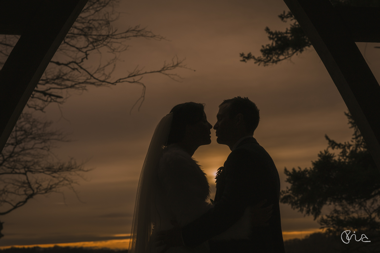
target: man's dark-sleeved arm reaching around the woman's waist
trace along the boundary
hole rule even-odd
[[[249,204],[263,198],[260,193],[263,175],[252,153],[247,149],[238,149],[231,152],[226,163],[226,185],[220,201],[181,230],[183,242],[188,247],[196,247],[223,233],[242,217]]]

